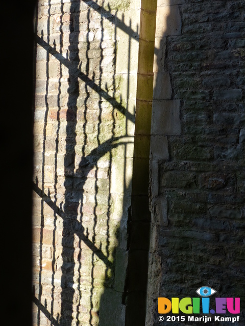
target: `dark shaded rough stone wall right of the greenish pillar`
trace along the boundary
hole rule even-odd
[[[243,1],[158,1],[147,325],[203,285],[244,309],[244,26]]]

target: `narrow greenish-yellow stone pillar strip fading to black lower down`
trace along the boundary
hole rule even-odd
[[[143,325],[145,322],[151,225],[149,155],[156,5],[156,1],[141,2],[132,199],[128,221],[127,326]]]

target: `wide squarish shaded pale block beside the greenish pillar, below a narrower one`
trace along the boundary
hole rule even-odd
[[[179,100],[153,101],[151,133],[181,134]]]

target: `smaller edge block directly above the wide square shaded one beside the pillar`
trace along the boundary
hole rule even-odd
[[[156,72],[153,82],[153,99],[170,99],[172,95],[172,87],[170,76],[166,72]]]

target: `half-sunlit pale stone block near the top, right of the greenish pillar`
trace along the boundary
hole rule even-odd
[[[181,16],[179,7],[163,6],[157,8],[156,37],[181,34]]]

